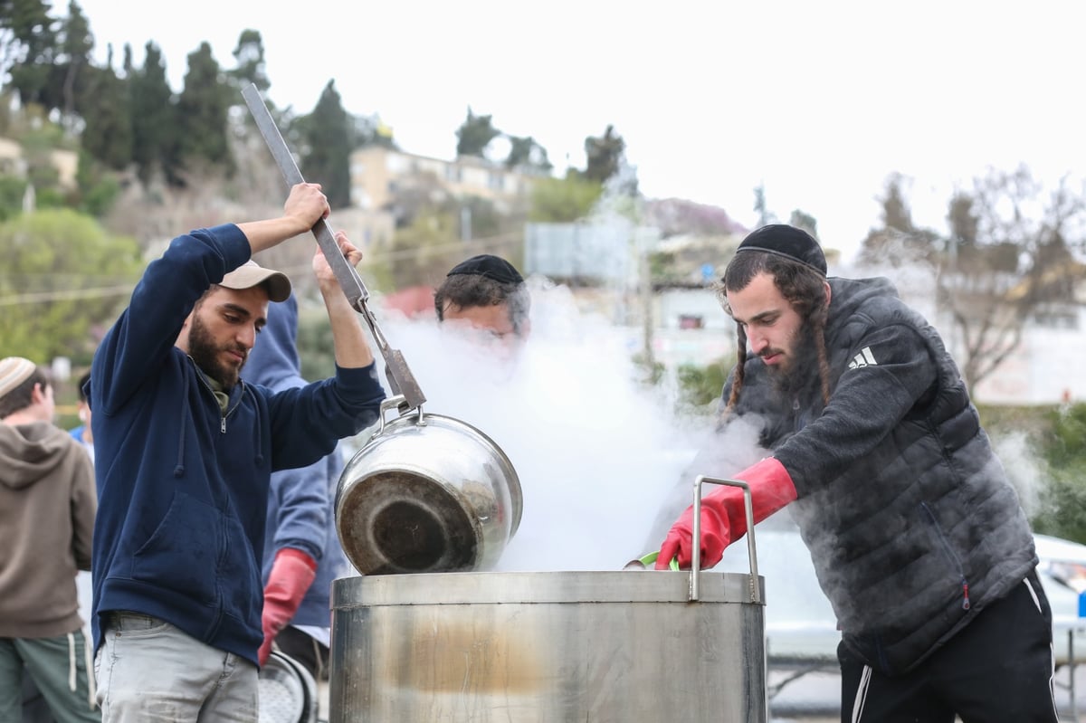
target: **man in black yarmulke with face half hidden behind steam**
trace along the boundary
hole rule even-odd
[[[433,295],[439,321],[456,321],[502,342],[523,341],[531,330],[531,297],[509,262],[480,254],[449,271]]]

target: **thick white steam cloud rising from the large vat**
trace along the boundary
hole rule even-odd
[[[637,381],[640,339],[578,313],[567,288],[528,282],[532,332],[516,359],[432,318],[381,329],[426,394],[424,411],[478,428],[517,470],[523,516],[497,569],[619,570],[656,549],[690,504],[684,471],[709,426],[685,429],[667,394]],[[760,456],[749,443],[731,458],[732,445],[715,445],[695,473],[734,473]]]

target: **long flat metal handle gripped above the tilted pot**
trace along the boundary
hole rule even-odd
[[[249,106],[249,112],[256,123],[256,128],[261,131],[261,136],[264,137],[264,142],[267,143],[268,150],[279,166],[279,170],[282,172],[282,177],[287,180],[288,186],[305,182],[305,178],[302,177],[302,172],[298,167],[298,162],[294,161],[293,154],[287,148],[287,141],[282,139],[282,134],[279,132],[279,127],[276,125],[275,118],[268,112],[260,90],[254,84],[249,84],[247,88],[242,89],[241,94],[245,99],[245,104]],[[366,320],[366,325],[372,332],[374,341],[377,343],[381,356],[384,358],[384,371],[389,380],[389,386],[392,388],[393,394],[403,396],[402,410],[406,411],[407,409],[419,407],[426,402],[426,396],[422,394],[422,390],[419,389],[418,382],[415,380],[415,375],[412,373],[403,354],[397,350],[389,347],[384,334],[381,333],[380,328],[377,326],[377,318],[369,309],[369,306],[366,305],[366,300],[369,299],[369,290],[362,282],[358,272],[353,266],[346,263],[343,254],[340,253],[331,225],[329,225],[327,219],[321,218],[313,227],[313,234],[316,237],[317,243],[325,254],[325,258],[328,259],[329,266],[336,272],[336,279],[339,281],[343,293],[346,294],[351,306],[362,314],[362,317]]]

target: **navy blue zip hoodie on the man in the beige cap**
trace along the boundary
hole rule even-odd
[[[312,465],[377,418],[372,364],[278,393],[242,380],[223,411],[175,342],[200,296],[250,254],[232,224],[174,239],[94,354],[96,650],[104,613],[129,610],[255,663],[272,472]]]

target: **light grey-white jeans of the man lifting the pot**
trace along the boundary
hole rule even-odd
[[[94,658],[103,723],[256,723],[257,670],[149,616],[113,612]]]

